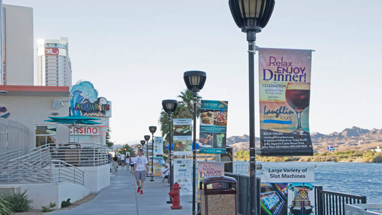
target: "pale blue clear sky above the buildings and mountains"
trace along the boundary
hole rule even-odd
[[[37,39],[69,37],[73,84],[91,81],[112,102],[115,144],[143,139],[148,126],[159,126],[162,100],[177,99],[186,89],[188,70],[206,72],[203,99],[229,102],[227,136],[249,133],[248,45],[228,0],[3,3],[33,7],[35,49]],[[315,50],[311,132],[382,127],[381,11],[381,0],[276,0],[256,44]],[[259,136],[257,87],[255,95]]]

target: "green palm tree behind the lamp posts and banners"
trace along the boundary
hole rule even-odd
[[[192,108],[193,108],[193,97],[192,92],[190,90],[185,90],[184,92],[181,92],[181,95],[178,96],[178,98],[181,98],[181,101],[178,101],[178,106],[175,109],[173,113],[173,118],[192,118]],[[200,96],[197,97],[197,99],[201,99]],[[196,107],[196,116],[198,117],[200,115],[200,105],[197,104]],[[158,120],[159,125],[161,127],[162,136],[164,136],[163,146],[167,146],[165,142],[169,142],[169,117],[165,111],[161,111],[161,116]],[[191,127],[192,129],[192,127]]]

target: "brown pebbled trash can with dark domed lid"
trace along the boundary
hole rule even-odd
[[[237,215],[237,181],[226,176],[200,180],[201,215]]]

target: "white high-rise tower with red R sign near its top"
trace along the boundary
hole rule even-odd
[[[72,64],[68,38],[37,41],[37,85],[72,86]]]

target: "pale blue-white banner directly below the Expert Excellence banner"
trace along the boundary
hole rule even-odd
[[[192,160],[174,159],[174,183],[181,186],[181,196],[192,195]]]

